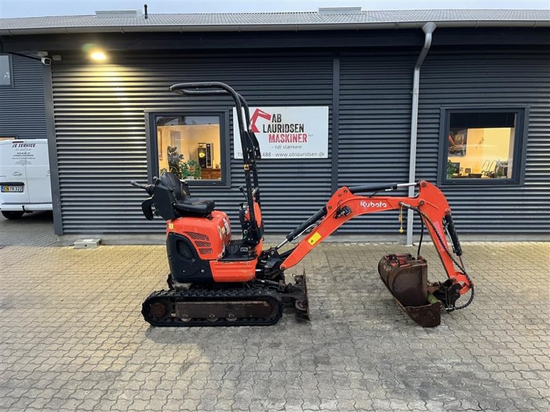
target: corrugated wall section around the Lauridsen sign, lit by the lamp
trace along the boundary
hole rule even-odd
[[[188,106],[228,109],[230,100],[186,99],[168,92],[176,82],[221,81],[251,106],[331,106],[332,55],[269,53],[113,56],[110,65],[87,65],[63,56],[52,65],[63,231],[160,233],[148,222],[144,192],[129,185],[147,176],[144,110]],[[330,116],[330,114],[329,114]],[[329,124],[329,134],[331,125]],[[232,125],[230,125],[232,131]],[[330,139],[330,135],[329,135]],[[329,143],[330,146],[330,143]],[[231,144],[232,147],[232,144]],[[230,213],[234,226],[242,161],[232,160],[231,189],[193,189]],[[331,194],[331,159],[263,160],[260,179],[268,233],[289,231]]]

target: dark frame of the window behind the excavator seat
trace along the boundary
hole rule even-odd
[[[203,111],[192,108],[146,109],[145,113],[145,134],[147,149],[147,177],[153,181],[153,176],[159,174],[159,157],[157,141],[156,117],[162,116],[216,116],[219,117],[220,130],[220,157],[221,157],[221,179],[220,180],[188,180],[190,187],[231,187],[231,158],[230,158],[230,133],[229,133],[229,111]]]

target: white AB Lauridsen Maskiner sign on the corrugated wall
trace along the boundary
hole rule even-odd
[[[328,106],[250,107],[251,128],[263,159],[329,157]],[[234,157],[243,159],[241,135],[233,108]]]

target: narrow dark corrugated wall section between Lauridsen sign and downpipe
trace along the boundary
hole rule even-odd
[[[406,182],[411,53],[342,53],[338,183]],[[400,192],[406,194],[405,191]],[[338,233],[397,233],[396,212],[361,216]]]

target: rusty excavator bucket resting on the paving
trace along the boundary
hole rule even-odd
[[[382,282],[406,314],[425,328],[441,323],[443,304],[428,301],[428,263],[410,254],[385,255],[378,264]]]

